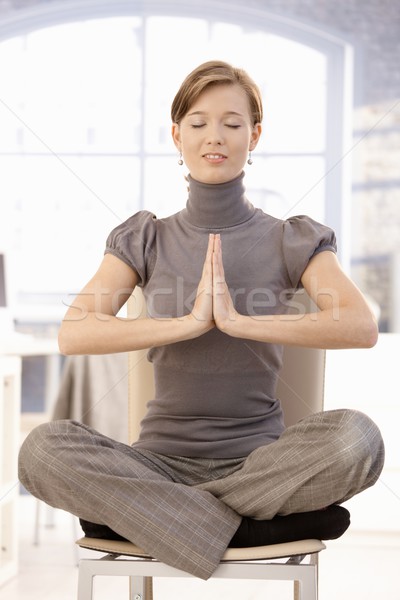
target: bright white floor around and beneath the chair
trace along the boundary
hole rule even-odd
[[[75,550],[81,531],[77,521],[62,511],[40,504],[39,544],[34,545],[36,500],[20,497],[19,575],[0,589],[1,600],[75,600],[77,560],[94,556]],[[46,525],[46,521],[53,525]],[[398,535],[366,534],[351,529],[343,538],[328,542],[320,555],[320,600],[400,600],[397,569],[400,566]],[[95,600],[128,599],[123,578],[98,578]],[[290,599],[287,582],[208,581],[195,579],[155,581],[160,600],[274,600]]]

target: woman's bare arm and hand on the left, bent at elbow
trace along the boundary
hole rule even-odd
[[[62,354],[111,354],[162,346],[198,337],[214,327],[212,320],[212,243],[193,312],[180,318],[124,319],[115,315],[138,283],[122,260],[106,254],[97,273],[77,295],[62,321],[58,341]]]

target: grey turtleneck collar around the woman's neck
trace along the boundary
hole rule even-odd
[[[196,227],[226,229],[248,221],[254,206],[245,196],[244,171],[226,183],[201,183],[188,175],[189,196],[183,216]]]

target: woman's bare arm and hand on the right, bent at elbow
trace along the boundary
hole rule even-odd
[[[233,337],[313,348],[370,348],[378,328],[363,295],[333,252],[314,256],[301,282],[318,306],[316,313],[239,315],[224,283],[220,242],[214,246],[214,320]]]

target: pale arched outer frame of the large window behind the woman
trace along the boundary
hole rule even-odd
[[[326,114],[326,196],[325,223],[332,227],[338,240],[338,255],[342,266],[350,266],[351,230],[351,115],[353,106],[354,49],[343,35],[316,27],[300,19],[279,15],[263,8],[241,7],[224,2],[204,0],[201,7],[184,0],[146,0],[135,5],[131,0],[80,0],[68,3],[43,3],[21,9],[0,23],[0,41],[23,35],[36,29],[85,19],[138,16],[179,16],[216,19],[241,26],[263,29],[310,46],[327,58]],[[143,162],[143,161],[142,161]],[[142,166],[142,168],[144,168]],[[143,182],[143,178],[141,178]],[[141,185],[143,185],[141,183]]]

